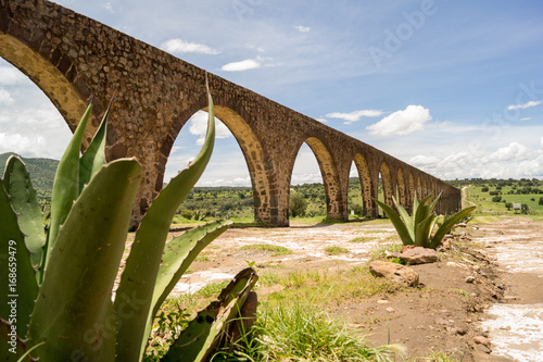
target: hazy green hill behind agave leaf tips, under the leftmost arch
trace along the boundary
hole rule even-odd
[[[10,152],[0,154],[0,175],[2,175],[2,177],[5,161],[12,154],[16,153]],[[30,173],[30,179],[34,188],[38,191],[38,195],[51,195],[53,190],[54,173],[56,172],[59,161],[51,159],[26,159],[23,157],[21,157],[21,159],[26,164],[26,167]]]

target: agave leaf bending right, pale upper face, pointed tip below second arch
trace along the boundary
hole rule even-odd
[[[148,321],[149,328],[160,307],[198,254],[210,245],[210,242],[223,234],[231,223],[232,222],[229,220],[220,220],[198,226],[166,244],[162,263],[159,269],[159,275],[156,277],[156,284],[154,286],[151,303],[153,308],[149,314],[150,320]],[[148,333],[150,333],[150,330],[148,330]]]

